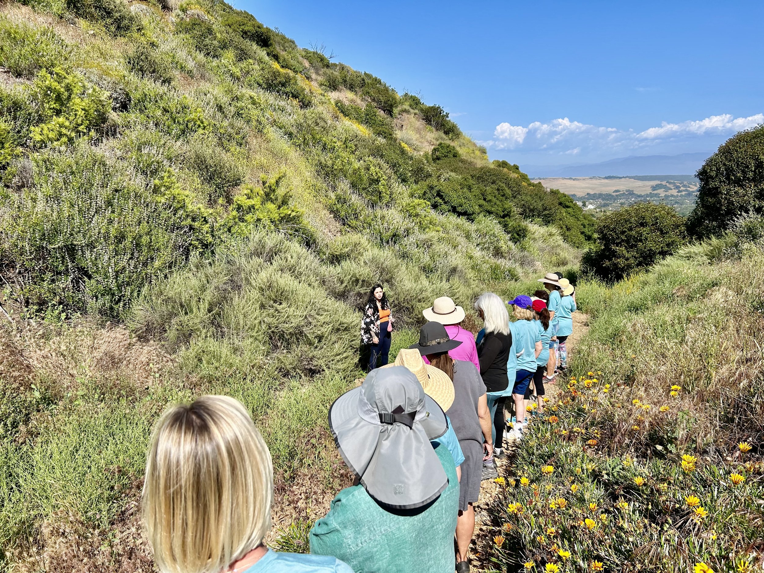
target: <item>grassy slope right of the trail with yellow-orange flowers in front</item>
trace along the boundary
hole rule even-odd
[[[579,287],[591,329],[499,478],[494,568],[761,570],[759,260]]]

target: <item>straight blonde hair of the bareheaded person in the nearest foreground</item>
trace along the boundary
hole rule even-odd
[[[270,529],[274,468],[247,410],[227,396],[173,406],[148,449],[143,519],[162,573],[218,573]]]

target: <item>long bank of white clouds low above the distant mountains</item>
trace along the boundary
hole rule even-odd
[[[504,121],[496,126],[494,139],[481,141],[481,144],[497,150],[513,149],[558,155],[613,154],[656,147],[662,143],[690,142],[699,138],[705,138],[705,144],[709,138],[730,136],[736,131],[761,123],[764,123],[764,114],[761,113],[747,118],[724,114],[681,123],[664,121],[660,127],[639,132],[589,125],[568,118],[558,118],[548,123],[533,121],[527,127]]]

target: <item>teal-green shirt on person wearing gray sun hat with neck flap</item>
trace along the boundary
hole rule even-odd
[[[356,573],[453,573],[459,482],[448,448],[435,453],[448,487],[426,510],[382,509],[361,485],[345,487],[310,531],[310,552],[342,559]]]

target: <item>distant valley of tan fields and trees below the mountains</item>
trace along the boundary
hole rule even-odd
[[[695,204],[698,180],[691,175],[544,177],[534,181],[559,189],[584,209],[612,210],[639,201],[662,202],[688,215]]]

